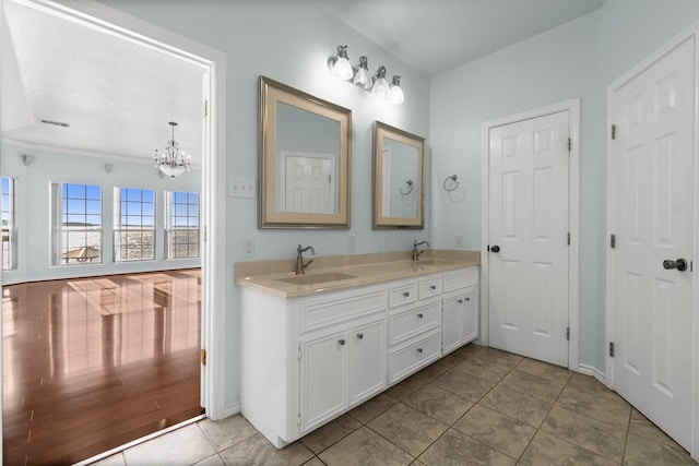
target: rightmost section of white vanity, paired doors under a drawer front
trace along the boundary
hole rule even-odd
[[[442,355],[478,337],[478,268],[446,273],[442,298]]]

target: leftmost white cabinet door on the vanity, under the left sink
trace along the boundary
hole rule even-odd
[[[347,407],[348,348],[346,331],[301,340],[301,432]]]

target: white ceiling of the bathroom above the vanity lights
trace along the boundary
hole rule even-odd
[[[333,16],[429,76],[583,16],[604,2],[316,0]],[[348,47],[348,52],[353,53],[351,61],[358,62],[362,51]]]

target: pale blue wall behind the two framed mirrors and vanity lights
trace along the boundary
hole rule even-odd
[[[292,87],[352,109],[352,229],[259,230],[257,200],[227,199],[226,230],[226,377],[225,404],[238,401],[239,299],[234,263],[293,259],[296,244],[312,244],[319,255],[408,251],[427,231],[371,229],[371,124],[375,120],[427,138],[429,80],[344,23],[308,1],[158,1],[104,0],[128,14],[187,36],[227,53],[227,176],[257,179],[258,79],[265,75]],[[328,58],[339,45],[348,46],[353,64],[369,57],[401,74],[405,103],[392,105],[328,72]],[[350,235],[356,248],[348,251]],[[254,240],[256,256],[242,256],[242,240]],[[312,267],[312,266],[311,266]]]

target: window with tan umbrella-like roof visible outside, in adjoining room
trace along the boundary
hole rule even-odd
[[[51,183],[54,265],[102,262],[102,188]]]

